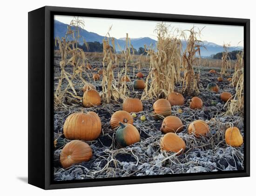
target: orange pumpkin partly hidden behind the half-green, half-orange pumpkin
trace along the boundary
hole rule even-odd
[[[128,123],[128,124],[133,124],[133,117],[130,113],[124,111],[124,110],[120,110],[120,111],[116,111],[110,119],[110,126],[112,127],[112,129],[120,126],[119,122],[121,123]]]

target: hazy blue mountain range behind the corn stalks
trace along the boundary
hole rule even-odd
[[[74,29],[74,27],[72,27]],[[54,20],[54,38],[56,37],[65,37],[65,34],[67,32],[67,24],[61,23],[58,20]],[[84,38],[87,42],[100,42],[102,43],[102,40],[104,39],[104,36],[101,36],[97,33],[94,32],[88,32],[85,29],[80,30],[80,35],[82,38]],[[79,42],[82,44],[83,40],[80,38]],[[133,47],[138,50],[140,47],[144,48],[144,45],[146,44],[147,46],[151,45],[153,47],[156,46],[156,40],[148,37],[143,37],[143,38],[130,38],[131,39],[131,44]],[[126,47],[126,38],[115,38],[115,42],[119,44],[121,49],[123,50]],[[201,48],[201,56],[202,57],[209,57],[212,54],[216,54],[218,52],[223,51],[222,45],[218,45],[212,42],[208,41],[203,41],[204,47],[206,48]],[[115,47],[117,51],[120,51],[118,47]],[[186,48],[186,41],[182,40],[182,48]],[[229,47],[229,51],[238,51],[238,50],[243,50],[243,47],[241,46],[231,46]]]

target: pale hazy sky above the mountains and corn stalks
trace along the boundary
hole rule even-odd
[[[108,19],[108,18],[92,18],[92,17],[79,17],[85,22],[84,29],[88,32],[95,32],[101,36],[105,36],[109,27],[112,25],[110,36],[115,38],[124,38],[128,33],[129,38],[149,37],[157,39],[154,32],[155,25],[159,21],[146,21],[146,20],[130,20],[130,19]],[[72,16],[55,15],[54,19],[69,24],[73,19]],[[171,27],[178,28],[179,30],[191,29],[193,25],[202,29],[201,40],[214,42],[222,45],[230,43],[231,46],[243,46],[243,26],[231,25],[209,25],[209,24],[193,24],[193,23],[176,23],[167,22]],[[240,42],[240,43],[239,43]]]

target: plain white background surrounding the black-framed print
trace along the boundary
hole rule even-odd
[[[46,5],[251,19],[251,177],[51,191],[40,190],[27,184],[27,12]],[[119,0],[116,2],[114,0],[34,0],[31,2],[2,0],[0,11],[0,194],[228,196],[251,193],[256,189],[256,133],[254,130],[256,106],[253,104],[256,99],[255,12],[252,0]],[[255,193],[249,195],[252,194]]]

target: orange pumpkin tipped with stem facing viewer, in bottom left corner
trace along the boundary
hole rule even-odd
[[[64,146],[61,151],[60,161],[63,168],[70,167],[72,164],[88,161],[92,158],[91,147],[80,140],[73,140]]]

